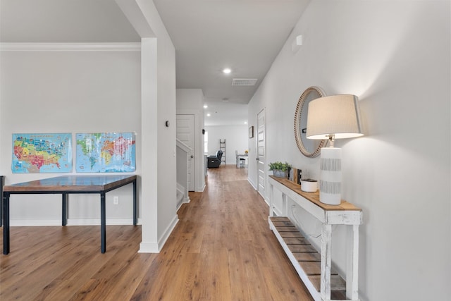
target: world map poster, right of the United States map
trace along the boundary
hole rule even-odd
[[[77,133],[78,173],[136,171],[134,133]]]

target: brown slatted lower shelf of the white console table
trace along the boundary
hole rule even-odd
[[[321,254],[302,236],[288,217],[269,216],[268,222],[307,289],[310,293],[314,290],[319,294]],[[333,270],[330,271],[330,299],[346,300],[346,281]]]

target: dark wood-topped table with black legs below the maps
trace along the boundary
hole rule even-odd
[[[137,224],[137,176],[59,176],[4,186],[3,192],[3,254],[9,253],[9,198],[13,194],[61,194],[62,225],[67,224],[68,195],[71,193],[100,194],[100,250],[106,252],[105,194],[124,185],[133,184],[133,225]]]

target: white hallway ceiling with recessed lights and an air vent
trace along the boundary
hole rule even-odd
[[[309,0],[154,3],[175,45],[177,87],[202,89],[211,113],[205,125],[242,125],[246,104]],[[222,73],[226,67],[232,69],[229,75]],[[233,78],[257,78],[257,85],[232,86]]]

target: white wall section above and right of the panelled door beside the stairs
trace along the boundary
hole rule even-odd
[[[178,114],[194,115],[194,191],[202,192],[205,188],[204,92],[201,89],[177,89],[176,99]]]

